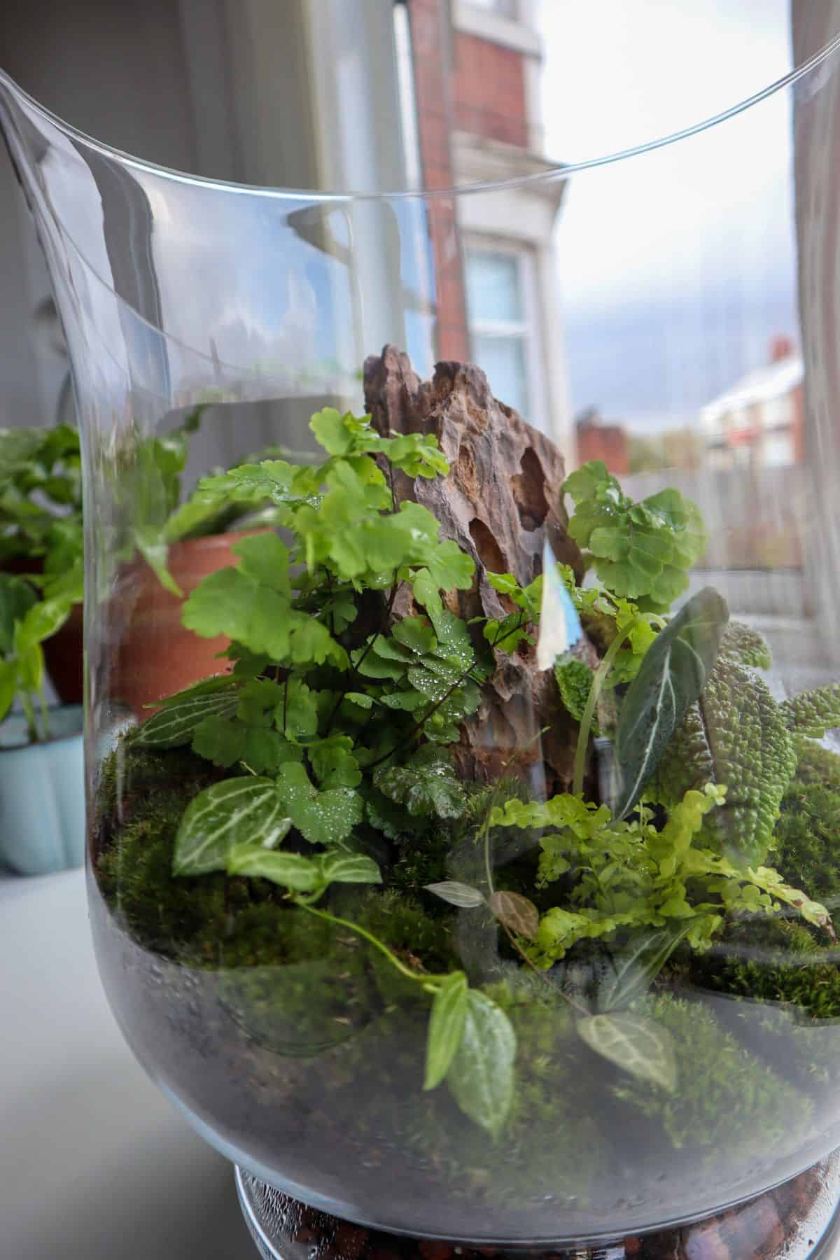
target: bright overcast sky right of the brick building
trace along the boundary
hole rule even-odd
[[[786,73],[788,0],[543,0],[547,149],[579,161],[709,117]],[[791,101],[569,181],[558,227],[574,411],[654,431],[797,334]]]

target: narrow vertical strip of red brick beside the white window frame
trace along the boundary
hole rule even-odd
[[[408,6],[414,59],[417,131],[426,188],[451,188],[452,97],[446,50],[446,0],[412,0]],[[455,202],[436,197],[428,202],[428,227],[434,255],[437,291],[436,341],[442,359],[470,358],[463,271]]]

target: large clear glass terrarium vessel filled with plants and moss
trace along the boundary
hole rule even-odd
[[[729,1208],[730,1254],[826,1227],[836,58],[635,152],[422,194],[157,169],[0,79],[82,430],[102,980],[266,1255],[332,1227],[354,1255],[652,1254]],[[496,323],[453,353],[458,224],[579,189],[579,295],[621,256],[644,309],[640,232],[704,276],[696,318],[694,290],[603,370],[725,383],[709,294],[778,244],[742,233],[762,127],[792,340],[707,399],[690,459],[631,472],[616,426],[581,421],[576,454],[563,415],[529,423],[504,251],[466,295]],[[573,314],[543,346],[572,379]],[[179,500],[198,426],[228,454]]]

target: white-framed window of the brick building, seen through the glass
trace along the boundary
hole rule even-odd
[[[467,307],[472,358],[487,374],[496,398],[528,417],[529,339],[523,249],[468,248]]]

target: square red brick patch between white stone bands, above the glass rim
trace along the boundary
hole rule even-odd
[[[528,147],[524,57],[477,35],[455,37],[455,125]]]

